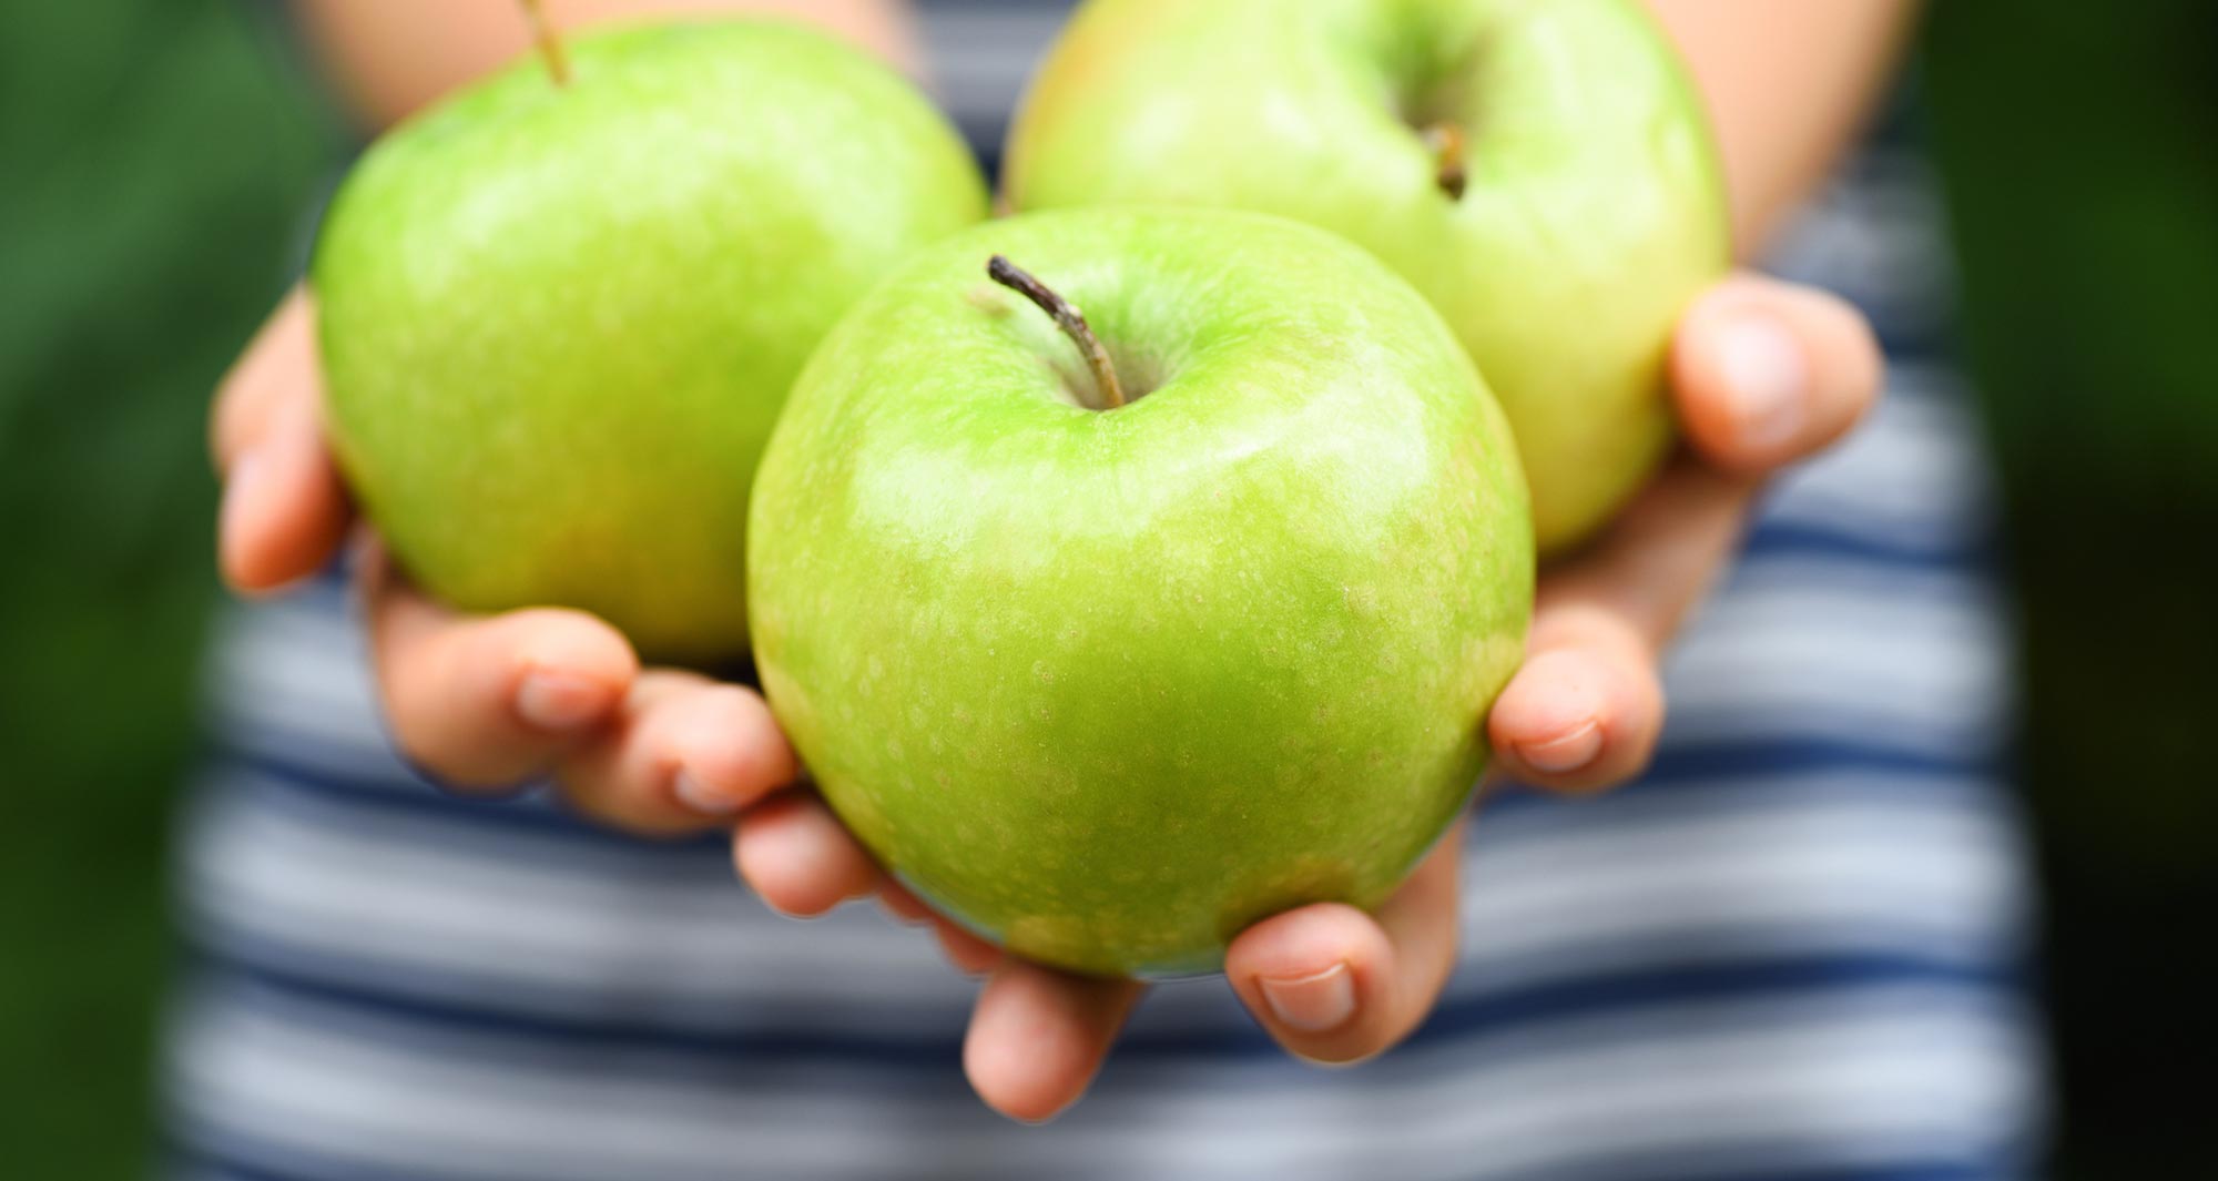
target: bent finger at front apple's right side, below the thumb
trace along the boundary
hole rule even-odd
[[[1542,573],[1526,662],[1495,699],[1495,770],[1599,790],[1664,733],[1661,646],[1726,566],[1754,482],[1681,457],[1584,553]]]

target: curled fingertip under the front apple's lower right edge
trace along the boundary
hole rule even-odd
[[[1455,968],[1457,824],[1375,915],[1320,904],[1233,939],[1224,979],[1289,1052],[1320,1063],[1373,1057],[1415,1030]]]

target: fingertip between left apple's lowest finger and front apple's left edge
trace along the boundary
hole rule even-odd
[[[661,668],[632,682],[614,724],[566,753],[554,779],[572,808],[610,828],[679,835],[725,824],[796,773],[759,695]]]

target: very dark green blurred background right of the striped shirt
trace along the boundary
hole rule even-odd
[[[1925,80],[2005,475],[2047,892],[2058,1174],[2218,1177],[2218,22],[1930,4]]]

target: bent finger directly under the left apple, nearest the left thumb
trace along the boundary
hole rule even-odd
[[[393,739],[455,788],[508,788],[606,726],[639,657],[581,610],[457,615],[368,546],[359,590]]]

